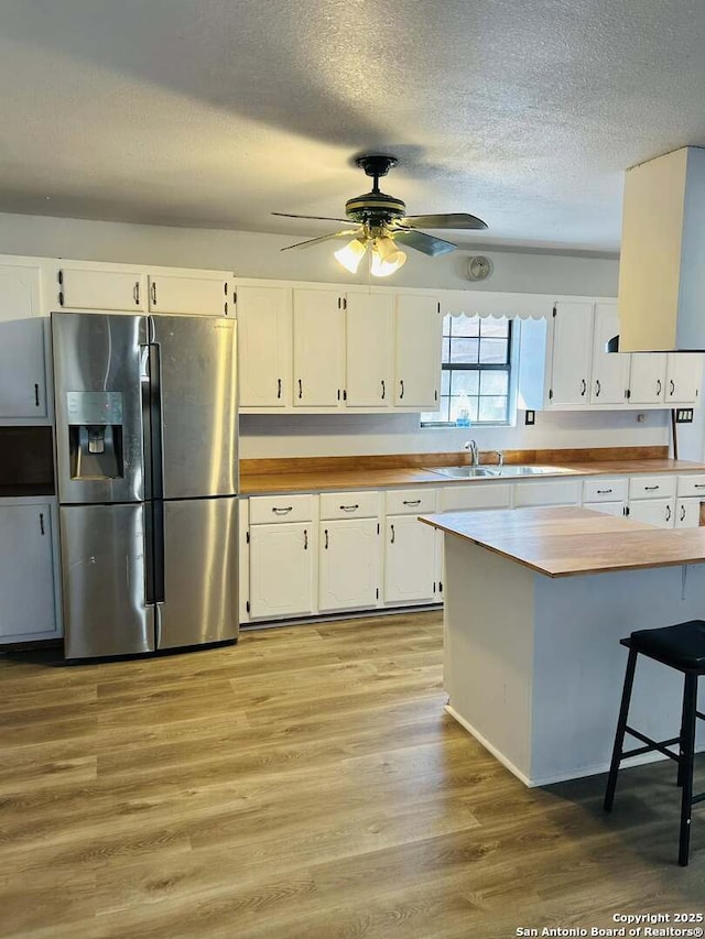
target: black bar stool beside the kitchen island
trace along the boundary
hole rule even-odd
[[[617,773],[619,772],[619,764],[622,760],[626,760],[628,756],[637,756],[641,753],[651,753],[654,750],[658,750],[665,756],[670,756],[679,765],[677,785],[682,787],[679,864],[685,867],[690,854],[691,809],[695,802],[705,799],[705,793],[701,793],[698,796],[693,795],[695,721],[696,718],[705,720],[705,714],[697,710],[697,679],[701,675],[705,675],[705,622],[703,620],[690,620],[687,623],[677,623],[675,626],[664,626],[657,630],[638,630],[629,638],[620,640],[620,643],[629,649],[629,659],[627,662],[625,687],[621,695],[619,720],[617,721],[617,733],[615,734],[612,760],[607,778],[605,811],[611,811],[615,800],[615,788],[617,786]],[[683,673],[681,733],[672,740],[652,740],[650,736],[627,724],[631,687],[633,685],[637,656],[639,653]],[[646,746],[625,752],[625,733],[630,733],[637,740],[641,740]],[[679,746],[677,754],[668,750],[669,746],[673,746],[674,744]]]

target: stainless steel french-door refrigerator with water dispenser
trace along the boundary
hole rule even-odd
[[[67,658],[234,640],[235,321],[52,314]]]

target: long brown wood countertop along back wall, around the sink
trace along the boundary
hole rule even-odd
[[[480,462],[496,462],[492,454],[480,455]],[[610,447],[573,450],[513,450],[505,454],[507,463],[555,466],[556,472],[541,479],[565,477],[565,470],[579,476],[609,473],[705,472],[705,463],[673,460],[668,447]],[[476,485],[500,477],[449,479],[434,469],[468,463],[465,451],[452,454],[398,454],[364,457],[299,457],[292,459],[241,460],[240,494],[264,495],[283,492],[326,492],[378,489],[390,485]],[[563,472],[561,471],[563,470]],[[507,481],[507,477],[503,481]],[[512,480],[536,479],[514,476]]]

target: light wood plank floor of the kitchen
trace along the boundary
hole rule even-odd
[[[674,767],[525,789],[443,710],[441,614],[0,656],[0,935],[509,937],[703,911]],[[560,707],[560,702],[556,702]],[[705,783],[699,773],[699,782]]]

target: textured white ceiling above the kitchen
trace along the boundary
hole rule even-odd
[[[0,0],[0,211],[322,234],[369,188],[468,243],[616,251],[705,145],[703,0]]]

